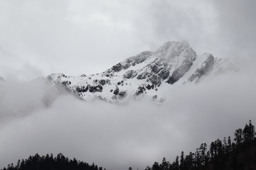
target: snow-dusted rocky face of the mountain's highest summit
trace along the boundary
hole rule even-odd
[[[149,79],[154,85],[160,86],[163,80],[173,84],[180,79],[196,59],[196,52],[189,47],[187,41],[169,41],[155,52],[155,60],[148,64],[137,78]]]

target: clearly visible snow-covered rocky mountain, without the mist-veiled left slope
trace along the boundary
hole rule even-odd
[[[54,89],[57,94],[71,92],[86,101],[126,103],[147,98],[161,102],[165,99],[165,92],[159,90],[163,84],[197,83],[204,75],[234,69],[228,58],[215,58],[208,53],[197,56],[184,40],[169,41],[155,52],[141,52],[102,73],[76,77],[57,73],[33,82],[46,82],[48,89]],[[53,96],[46,90],[45,101],[53,100]]]

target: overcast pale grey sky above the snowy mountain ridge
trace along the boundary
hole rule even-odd
[[[63,72],[102,72],[166,41],[197,54],[248,57],[254,0],[1,0],[0,75],[28,81]]]

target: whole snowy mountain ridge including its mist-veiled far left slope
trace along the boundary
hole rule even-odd
[[[24,115],[67,93],[85,101],[122,104],[143,99],[160,103],[173,84],[194,84],[232,70],[238,68],[228,58],[197,55],[187,41],[169,41],[155,52],[141,52],[93,75],[57,73],[22,84],[6,82],[0,76],[0,117]]]

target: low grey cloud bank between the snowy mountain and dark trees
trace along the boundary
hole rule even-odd
[[[117,106],[62,96],[51,107],[0,126],[0,166],[39,153],[58,153],[106,169],[145,169],[163,157],[195,152],[201,143],[255,124],[253,72],[219,75],[197,85],[171,86],[167,102]],[[29,100],[27,101],[29,102]],[[25,102],[26,103],[26,102]]]

